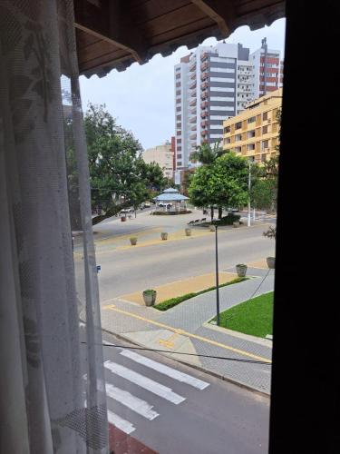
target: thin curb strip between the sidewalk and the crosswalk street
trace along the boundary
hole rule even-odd
[[[131,341],[131,339],[125,337],[121,333],[115,333],[115,332],[112,332],[112,331],[109,331],[109,330],[105,330],[104,328],[102,328],[102,331],[106,332],[108,334],[111,334],[112,336],[115,336],[117,339],[120,339],[121,341],[127,341],[127,342],[130,342],[132,345],[136,345],[138,347],[153,351],[154,353],[159,353],[160,355],[164,355],[167,358],[170,358],[171,360],[175,360],[177,362],[180,362],[180,364],[184,364],[184,365],[189,366],[189,367],[191,367],[193,369],[199,370],[200,372],[208,373],[209,375],[212,375],[213,377],[216,377],[216,378],[218,378],[220,380],[228,381],[229,383],[232,383],[232,384],[238,386],[239,388],[251,391],[251,392],[253,392],[253,393],[255,393],[255,394],[259,395],[259,396],[266,397],[267,399],[270,399],[270,392],[266,392],[264,390],[258,390],[258,388],[252,387],[252,386],[248,385],[247,383],[244,383],[243,381],[238,381],[238,380],[231,379],[231,378],[229,378],[229,377],[227,377],[227,376],[225,376],[223,374],[220,374],[219,372],[215,372],[213,370],[206,369],[206,368],[204,368],[202,366],[198,366],[197,364],[193,364],[193,363],[191,363],[189,361],[178,360],[178,359],[176,359],[176,358],[174,358],[172,356],[173,353],[171,353],[171,352],[148,349],[147,347],[145,347],[145,345],[143,345],[141,343],[138,343],[136,341]]]

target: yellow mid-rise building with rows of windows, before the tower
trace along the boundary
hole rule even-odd
[[[277,156],[282,88],[249,103],[246,110],[223,122],[223,150],[240,153],[255,163]]]

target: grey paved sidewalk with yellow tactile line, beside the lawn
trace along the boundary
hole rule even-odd
[[[248,268],[248,276],[254,278],[219,290],[220,311],[273,291],[274,270]],[[271,341],[234,335],[233,331],[208,324],[215,315],[216,291],[183,301],[165,312],[117,298],[104,301],[102,329],[116,334],[121,343],[125,339],[160,350],[174,360],[269,395]]]

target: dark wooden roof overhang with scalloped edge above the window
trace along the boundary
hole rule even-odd
[[[285,16],[283,0],[74,0],[81,74],[100,77],[180,45],[256,30]]]

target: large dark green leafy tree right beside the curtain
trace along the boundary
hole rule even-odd
[[[135,209],[149,197],[152,187],[161,187],[160,166],[144,163],[141,143],[117,125],[105,105],[89,104],[84,117],[92,187],[92,208],[104,214],[93,223],[120,212]]]

